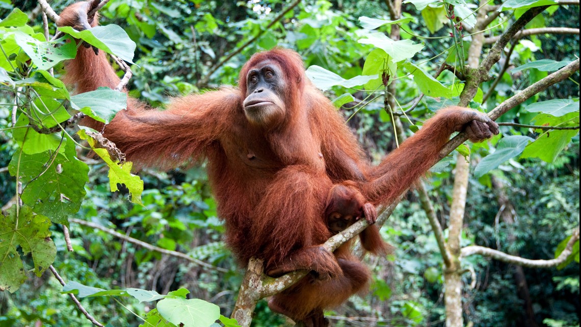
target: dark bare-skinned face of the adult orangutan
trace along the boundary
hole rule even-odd
[[[282,101],[285,80],[280,67],[273,62],[262,62],[250,69],[246,76],[246,99],[244,113],[250,123],[272,127],[284,119],[285,106]]]

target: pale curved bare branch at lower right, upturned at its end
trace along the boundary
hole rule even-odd
[[[571,239],[569,239],[565,249],[561,252],[561,254],[557,258],[551,260],[525,259],[483,246],[467,246],[465,248],[462,248],[462,257],[480,254],[498,261],[507,262],[508,264],[524,266],[527,268],[553,268],[554,266],[558,266],[567,260],[569,255],[572,254],[573,245],[578,240],[579,240],[579,227],[573,230],[573,233],[571,234]]]

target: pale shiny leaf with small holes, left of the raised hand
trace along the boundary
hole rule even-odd
[[[39,69],[49,69],[63,60],[73,59],[77,54],[74,42],[66,42],[55,48],[55,42],[42,42],[21,31],[13,33],[16,43]]]

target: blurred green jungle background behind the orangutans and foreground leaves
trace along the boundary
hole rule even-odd
[[[72,1],[51,1],[50,5],[59,13],[70,3]],[[450,4],[468,9],[468,14],[462,17],[462,23],[466,23],[463,28],[458,28],[450,19]],[[472,13],[484,5],[493,7],[488,17],[494,17],[484,33],[481,54],[484,58],[494,43],[492,38],[503,33],[523,12],[533,6],[552,4],[548,0],[542,3],[511,1],[512,6],[505,6],[508,9],[499,9],[502,3],[497,0],[486,3],[412,0],[400,2],[401,11],[397,12],[390,0],[112,0],[100,13],[103,25],[121,26],[127,37],[135,42],[135,65],[131,65],[133,76],[128,84],[130,95],[159,107],[167,104],[171,97],[224,84],[235,85],[240,68],[254,52],[277,46],[295,49],[302,55],[305,67],[324,69],[310,76],[318,76],[316,74],[321,72],[328,74],[329,71],[343,79],[372,74],[378,77],[378,72],[381,77],[385,72],[382,71],[383,64],[382,67],[370,67],[367,61],[376,47],[360,42],[365,30],[365,19],[360,17],[386,21],[404,19],[401,30],[393,24],[380,24],[375,29],[393,36],[397,28],[402,40],[421,44],[413,58],[404,59],[421,66],[430,75],[447,63],[451,68],[444,69],[437,83],[453,90],[456,84],[462,83],[461,74],[455,73],[468,65],[469,29],[476,22],[476,15]],[[48,71],[48,67],[42,68],[34,60],[31,63],[30,54],[20,47],[8,48],[14,43],[11,41],[14,37],[11,38],[9,33],[15,29],[28,35],[44,33],[43,10],[37,1],[0,0],[0,18],[9,17],[15,8],[27,16],[26,30],[20,23],[0,22],[0,45],[3,45],[3,54],[0,54],[0,204],[4,214],[0,219],[6,222],[5,225],[0,223],[2,232],[10,230],[9,210],[15,205],[15,195],[19,193],[16,170],[10,168],[11,161],[24,146],[18,130],[11,125],[15,94],[19,94],[20,100],[16,102],[19,103],[24,101],[22,98],[33,97],[22,90],[40,86],[35,83],[52,83],[53,91],[58,88],[57,83],[45,75],[45,80],[22,82],[40,76],[34,72]],[[289,9],[288,12],[275,21],[285,9]],[[393,13],[399,15],[394,17]],[[49,33],[54,35],[55,24],[49,21],[48,26]],[[469,102],[471,108],[488,112],[551,73],[540,66],[518,69],[519,66],[543,59],[551,63],[564,62],[562,66],[565,66],[578,59],[579,2],[552,5],[532,19],[525,29],[546,27],[576,29],[576,33],[535,33],[515,38],[503,47],[500,61],[492,66],[492,78],[479,84],[479,93]],[[462,34],[467,35],[458,38]],[[58,46],[62,44],[60,42]],[[382,55],[383,58],[389,57]],[[54,69],[55,77],[62,76],[63,62],[50,68]],[[385,105],[387,101],[383,101],[381,78],[376,84],[366,84],[365,87],[361,87],[365,83],[357,84],[360,87],[345,87],[337,82],[325,91],[330,99],[340,98],[337,103],[339,112],[349,119],[347,124],[374,162],[401,142],[403,137],[396,137],[397,133],[394,133],[396,120],[402,124],[404,136],[411,135],[417,130],[415,125],[421,125],[437,109],[460,101],[458,93],[446,97],[436,92],[419,97],[425,90],[418,87],[422,83],[421,77],[411,76],[410,66],[398,65],[389,72],[391,78],[397,76],[397,80],[390,84],[394,86],[392,94],[396,100],[392,113],[411,108],[406,112],[407,116],[390,115]],[[16,80],[20,80],[20,84]],[[437,217],[443,235],[447,237],[456,194],[457,158],[469,158],[471,170],[462,213],[462,247],[485,246],[529,259],[557,257],[565,248],[568,236],[579,226],[578,80],[577,72],[515,106],[497,120],[537,126],[569,124],[577,126],[576,129],[553,131],[501,126],[501,136],[483,144],[466,143],[467,146],[444,158],[426,176],[424,190],[433,212],[426,210],[425,202],[420,199],[421,192],[408,192],[381,229],[385,240],[395,247],[394,253],[385,257],[365,257],[373,271],[370,292],[354,296],[341,307],[328,311],[332,325],[446,324],[446,266],[428,216]],[[43,93],[36,95],[51,97]],[[59,99],[56,95],[51,98]],[[555,120],[562,116],[551,116],[547,112],[527,110],[530,104],[551,99],[564,99],[573,106],[566,113],[566,120]],[[24,115],[26,110],[21,112]],[[69,113],[74,114],[71,110]],[[70,135],[76,133],[74,125],[67,129]],[[60,131],[56,134],[62,135]],[[551,134],[553,138],[550,138]],[[522,145],[522,153],[517,151],[501,161],[496,159],[497,163],[487,169],[482,165],[478,168],[487,156],[506,148],[499,142],[501,137],[507,136],[530,137],[531,143]],[[542,136],[554,140],[554,143],[548,141],[533,145],[536,142],[532,141]],[[223,244],[223,222],[216,215],[216,202],[211,196],[203,165],[169,172],[142,169],[138,172],[144,182],[142,204],[133,204],[130,200],[132,190],[127,187],[120,187],[117,192],[110,190],[107,176],[110,166],[107,163],[88,157],[87,151],[80,147],[74,151],[70,144],[73,143],[68,141],[67,153],[89,167],[84,177],[87,181],[81,185],[86,194],[80,195],[76,209],[61,213],[60,218],[52,219],[43,213],[52,222],[47,235],[56,247],[55,258],[49,264],[60,276],[66,282],[103,290],[136,288],[168,294],[183,288],[190,292],[187,298],[216,304],[220,314],[229,317],[244,271],[235,264]],[[539,148],[529,151],[525,145]],[[42,151],[55,151],[55,148],[48,145]],[[38,153],[42,151],[38,150]],[[24,201],[23,205],[33,207],[34,203]],[[34,208],[35,212],[41,211]],[[70,241],[66,240],[63,226],[68,226]],[[7,229],[2,229],[5,227]],[[153,247],[136,244],[135,240]],[[73,251],[67,251],[67,243]],[[8,255],[6,244],[8,241],[0,233],[2,260]],[[566,262],[547,269],[519,268],[486,255],[462,258],[460,310],[464,324],[579,326],[578,244],[577,241]],[[209,265],[202,266],[173,252],[160,250],[178,251]],[[15,292],[0,292],[0,326],[91,326],[71,298],[61,293],[63,287],[50,271],[44,271],[40,276],[33,273],[39,269],[33,269],[36,264],[27,252],[19,249],[16,255],[21,257],[27,270],[30,269],[26,281],[23,280]],[[6,269],[6,264],[2,269]],[[148,317],[148,312],[155,308],[155,302],[140,303],[135,298],[113,294],[80,296],[80,303],[97,321],[107,326],[146,325],[141,318]],[[170,325],[170,322],[159,324]],[[291,325],[285,317],[273,314],[266,301],[257,304],[252,326]]]

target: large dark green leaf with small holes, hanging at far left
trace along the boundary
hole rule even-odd
[[[74,143],[64,145],[64,154],[45,151],[28,155],[16,152],[8,166],[10,175],[20,174],[27,183],[22,201],[53,223],[69,225],[69,216],[78,212],[85,197],[89,167],[78,160]]]

